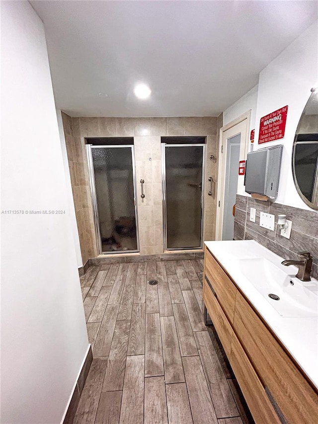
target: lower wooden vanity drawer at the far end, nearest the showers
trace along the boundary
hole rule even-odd
[[[203,283],[203,301],[213,321],[213,325],[218,333],[225,353],[230,357],[233,330],[206,281]]]

